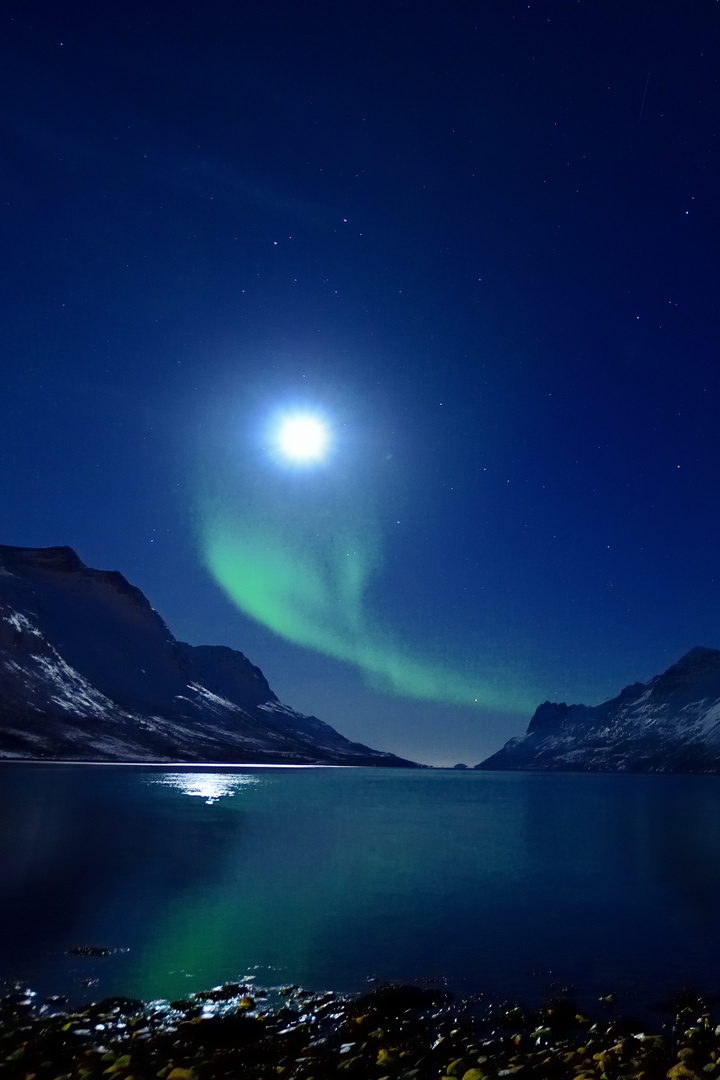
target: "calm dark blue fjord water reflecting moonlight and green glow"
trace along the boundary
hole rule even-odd
[[[720,778],[5,764],[0,799],[0,976],[41,994],[720,987]]]

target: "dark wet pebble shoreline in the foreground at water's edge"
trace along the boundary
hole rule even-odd
[[[340,997],[226,984],[187,1000],[107,998],[67,1009],[0,998],[0,1080],[705,1080],[720,1026],[685,991],[651,1032],[610,998],[600,1017],[567,994],[530,1013],[441,990]]]

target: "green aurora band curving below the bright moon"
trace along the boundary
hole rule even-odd
[[[202,559],[250,618],[295,645],[361,669],[378,690],[516,712],[525,687],[489,665],[453,667],[379,625],[368,586],[383,566],[370,485],[340,470],[242,464],[207,470],[199,499]],[[448,653],[457,649],[448,643]]]

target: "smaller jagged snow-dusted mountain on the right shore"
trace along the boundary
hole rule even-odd
[[[476,769],[720,772],[720,650],[694,648],[601,705],[546,701]]]

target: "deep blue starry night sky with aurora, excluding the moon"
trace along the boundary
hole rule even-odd
[[[0,542],[429,764],[720,647],[717,0],[0,29]]]

